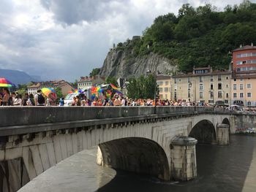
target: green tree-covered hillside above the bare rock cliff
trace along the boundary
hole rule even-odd
[[[118,43],[117,49],[129,50],[131,57],[151,52],[164,55],[182,72],[193,66],[227,69],[230,51],[239,45],[256,45],[256,4],[243,1],[227,5],[223,12],[211,4],[197,8],[184,4],[178,15],[159,16],[141,39],[127,41]]]

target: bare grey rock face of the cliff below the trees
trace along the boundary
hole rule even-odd
[[[176,71],[175,61],[170,61],[155,53],[148,55],[134,56],[132,51],[113,48],[105,58],[99,74],[105,77],[139,77],[146,74],[146,71],[159,71],[168,74]]]

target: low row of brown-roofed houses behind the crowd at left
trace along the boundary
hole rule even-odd
[[[53,81],[45,81],[45,82],[35,82],[33,85],[28,87],[28,93],[35,94],[37,90],[42,88],[60,88],[62,95],[66,96],[70,91],[75,91],[75,88],[69,84],[69,82],[65,80],[53,80]]]

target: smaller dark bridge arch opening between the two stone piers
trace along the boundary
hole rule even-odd
[[[198,143],[204,144],[214,144],[217,141],[214,124],[210,120],[200,120],[195,124],[189,137],[194,137]]]

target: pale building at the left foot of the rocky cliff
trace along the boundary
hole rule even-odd
[[[80,77],[78,81],[78,90],[80,89],[89,89],[91,86],[101,85],[105,82],[105,77],[96,75],[95,77]]]

